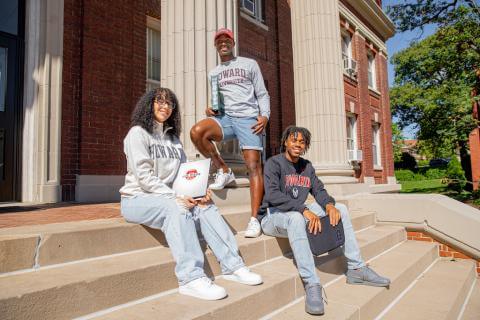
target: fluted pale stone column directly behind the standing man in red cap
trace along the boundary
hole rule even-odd
[[[182,141],[190,159],[198,151],[190,129],[205,118],[208,104],[208,71],[218,63],[213,45],[221,27],[237,34],[236,0],[162,0],[161,81],[177,94],[181,105]]]

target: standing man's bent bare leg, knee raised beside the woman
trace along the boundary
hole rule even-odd
[[[206,157],[212,159],[213,165],[217,169],[223,169],[228,172],[228,166],[217,152],[213,141],[222,141],[222,129],[215,120],[203,119],[195,124],[190,130],[190,139],[197,147],[198,151]]]

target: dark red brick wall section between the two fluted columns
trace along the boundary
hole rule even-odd
[[[240,16],[238,45],[240,56],[258,62],[270,94],[266,147],[269,157],[279,152],[283,129],[295,123],[292,31],[287,0],[266,1],[263,24],[268,30]]]

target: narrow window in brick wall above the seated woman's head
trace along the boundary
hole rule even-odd
[[[160,21],[147,17],[147,91],[160,87]]]

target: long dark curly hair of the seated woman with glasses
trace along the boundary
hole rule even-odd
[[[168,88],[152,89],[138,99],[137,105],[132,112],[130,127],[140,126],[150,134],[153,133],[153,124],[155,122],[153,103],[155,99],[168,101],[173,107],[172,114],[164,123],[164,128],[171,127],[172,129],[170,129],[169,133],[177,137],[180,136],[182,120],[180,118],[178,100],[175,93]]]

